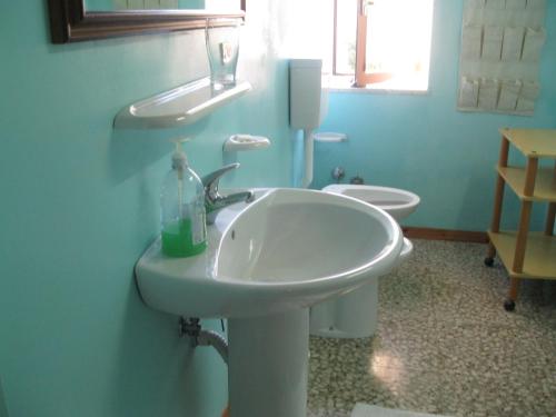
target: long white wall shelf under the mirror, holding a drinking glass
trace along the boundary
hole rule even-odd
[[[191,125],[251,89],[247,81],[215,91],[210,78],[189,82],[172,90],[138,101],[116,116],[116,128],[163,129]]]

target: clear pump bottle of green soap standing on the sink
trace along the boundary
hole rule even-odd
[[[162,252],[177,258],[198,255],[207,248],[205,188],[181,150],[186,140],[175,140],[172,167],[160,193]]]

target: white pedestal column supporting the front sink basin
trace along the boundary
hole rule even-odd
[[[306,417],[309,309],[228,320],[231,417]]]

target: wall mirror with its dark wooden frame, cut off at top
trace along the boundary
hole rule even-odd
[[[235,26],[246,0],[48,0],[53,43]]]

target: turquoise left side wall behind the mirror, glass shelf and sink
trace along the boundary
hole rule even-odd
[[[199,173],[231,133],[265,135],[228,185],[290,183],[287,66],[270,0],[251,4],[240,73],[255,90],[193,129],[116,131],[126,105],[207,75],[202,32],[54,46],[46,1],[0,17],[0,377],[10,417],[219,416],[226,367],[148,309],[133,266],[158,232],[168,139]],[[265,40],[262,43],[260,40]],[[217,322],[208,322],[217,327]],[[0,406],[1,409],[1,406]],[[0,411],[1,414],[1,411]]]

